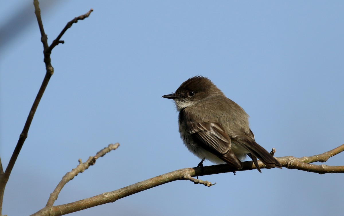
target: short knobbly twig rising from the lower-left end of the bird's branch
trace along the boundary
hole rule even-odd
[[[105,147],[104,149],[97,152],[97,154],[93,157],[89,157],[88,160],[85,163],[82,163],[81,159],[79,159],[79,165],[72,169],[72,171],[67,172],[64,177],[62,177],[62,180],[58,185],[56,186],[54,192],[50,194],[49,200],[46,203],[46,206],[52,206],[54,202],[57,200],[58,194],[61,192],[62,188],[69,182],[70,180],[74,179],[75,176],[77,176],[79,173],[84,172],[86,169],[89,168],[89,166],[92,166],[96,163],[96,160],[100,157],[103,157],[106,153],[110,152],[111,150],[117,149],[119,146],[119,143],[116,144],[110,144],[108,147]]]

